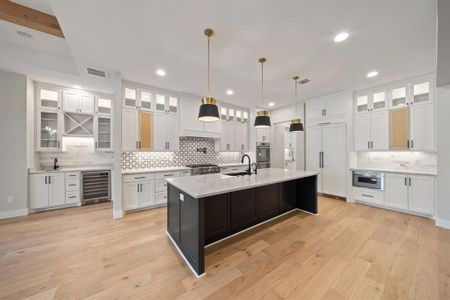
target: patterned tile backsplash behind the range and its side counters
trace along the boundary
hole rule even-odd
[[[206,153],[203,153],[203,150],[206,150]],[[181,137],[179,152],[123,152],[122,170],[177,167],[204,163],[225,164],[239,162],[240,159],[240,152],[215,151],[214,139]]]

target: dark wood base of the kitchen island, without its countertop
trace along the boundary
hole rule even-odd
[[[194,198],[168,183],[167,233],[196,276],[205,246],[292,210],[317,214],[317,176]]]

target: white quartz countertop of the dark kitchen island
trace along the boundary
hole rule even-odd
[[[274,184],[317,175],[317,172],[289,169],[261,169],[251,176],[233,177],[224,174],[207,174],[166,179],[194,198],[203,198],[258,186]]]

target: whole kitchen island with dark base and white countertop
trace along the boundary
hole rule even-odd
[[[270,168],[167,181],[167,233],[197,276],[205,246],[292,210],[317,214],[316,172]]]

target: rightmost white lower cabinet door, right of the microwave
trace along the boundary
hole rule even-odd
[[[411,175],[409,184],[409,209],[421,214],[434,215],[434,178]]]

